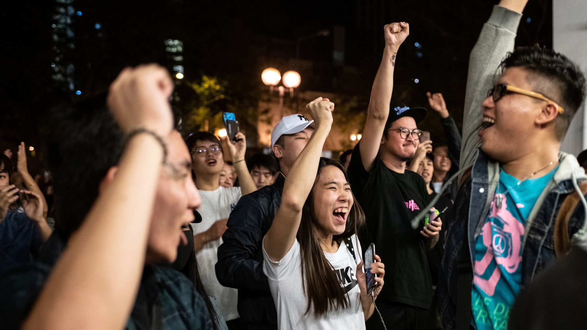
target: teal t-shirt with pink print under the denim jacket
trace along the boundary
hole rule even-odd
[[[471,324],[475,329],[507,329],[510,307],[522,282],[526,219],[557,169],[558,166],[545,176],[519,185],[518,179],[501,170],[500,186],[495,190],[490,214],[475,242],[471,292]],[[503,196],[501,205],[496,201],[498,193]]]

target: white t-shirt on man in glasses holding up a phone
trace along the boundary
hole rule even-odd
[[[202,204],[198,208],[198,212],[202,215],[202,222],[191,224],[194,235],[207,231],[217,220],[228,218],[242,196],[241,187],[219,187],[217,190],[200,190],[199,192]],[[214,265],[218,262],[217,251],[220,244],[222,244],[222,238],[207,243],[195,257],[198,261],[202,283],[218,301],[224,319],[230,321],[238,318],[238,294],[237,289],[222,287],[216,278]]]

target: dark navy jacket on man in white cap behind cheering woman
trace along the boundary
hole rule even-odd
[[[261,245],[279,210],[284,182],[279,174],[272,186],[242,196],[228,217],[224,243],[218,247],[216,277],[225,287],[238,289],[238,314],[245,329],[277,329]]]

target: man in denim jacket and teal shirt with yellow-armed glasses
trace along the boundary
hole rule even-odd
[[[561,142],[585,99],[575,63],[514,49],[527,0],[501,0],[471,51],[460,188],[447,217],[438,306],[444,329],[501,329],[520,288],[556,260],[557,211],[587,179]],[[585,241],[583,206],[564,230]]]

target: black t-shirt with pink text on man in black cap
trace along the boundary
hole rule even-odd
[[[350,159],[349,181],[366,215],[360,235],[363,248],[375,244],[385,264],[385,285],[378,299],[430,308],[432,284],[421,228],[413,230],[411,219],[426,207],[430,197],[424,179],[413,172],[397,173],[379,155],[367,172],[359,144]]]

